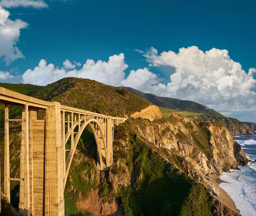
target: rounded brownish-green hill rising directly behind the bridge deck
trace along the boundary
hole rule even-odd
[[[49,84],[38,90],[33,97],[59,101],[66,106],[120,117],[152,105],[149,101],[125,89],[74,77]]]

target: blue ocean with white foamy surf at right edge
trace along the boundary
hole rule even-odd
[[[251,162],[224,172],[220,187],[234,200],[242,216],[256,216],[256,135],[234,136]]]

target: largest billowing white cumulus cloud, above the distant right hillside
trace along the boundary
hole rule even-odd
[[[151,47],[144,57],[150,66],[170,67],[170,82],[153,86],[158,95],[197,101],[218,110],[246,110],[256,105],[255,68],[245,73],[227,50],[212,48],[204,53],[191,46],[180,48],[178,53],[158,54]]]

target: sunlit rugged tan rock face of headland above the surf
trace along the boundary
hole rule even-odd
[[[136,131],[157,148],[165,148],[181,156],[191,177],[200,175],[204,179],[205,175],[220,175],[223,170],[235,169],[249,162],[225,126],[195,123],[173,114],[167,120],[147,122]]]

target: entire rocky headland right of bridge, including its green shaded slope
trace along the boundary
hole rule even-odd
[[[225,126],[175,114],[128,119],[115,130],[113,156],[106,197],[91,190],[77,201],[81,211],[85,202],[95,215],[237,215],[213,198],[218,189],[208,178],[248,162]]]

